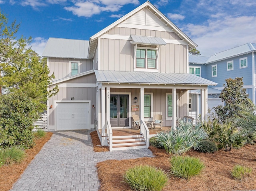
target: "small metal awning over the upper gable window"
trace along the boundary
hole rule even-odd
[[[148,45],[166,45],[166,42],[161,37],[136,36],[131,35],[134,44],[148,44]]]

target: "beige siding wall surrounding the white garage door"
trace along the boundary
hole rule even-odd
[[[96,77],[93,74],[89,74],[83,77],[79,77],[77,79],[72,79],[66,81],[67,84],[72,83],[81,83],[81,84],[95,84]],[[62,87],[62,83],[58,84],[59,92],[57,95],[52,96],[49,98],[47,105],[48,105],[48,125],[54,125],[54,100],[71,100],[71,97],[74,97],[75,100],[90,100],[91,101],[91,123],[94,123],[94,117],[96,116],[96,107],[92,108],[92,105],[96,106],[96,87]],[[52,87],[49,88],[52,90]],[[52,105],[52,108],[49,108]],[[95,115],[94,115],[95,114]]]

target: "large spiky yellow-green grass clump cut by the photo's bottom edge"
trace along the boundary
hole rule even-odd
[[[162,169],[140,165],[128,169],[123,179],[134,190],[160,191],[166,185],[168,175]]]

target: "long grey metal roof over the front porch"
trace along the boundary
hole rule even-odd
[[[193,74],[95,70],[95,75],[99,83],[217,85]]]

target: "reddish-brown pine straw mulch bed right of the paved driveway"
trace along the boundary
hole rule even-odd
[[[97,164],[98,176],[101,181],[100,191],[132,191],[122,182],[122,175],[126,169],[136,165],[154,165],[168,173],[170,156],[165,150],[150,147],[154,158],[138,158],[129,160],[108,160]],[[190,180],[170,176],[164,191],[233,191],[256,189],[256,144],[246,145],[240,150],[230,152],[218,151],[214,154],[204,154],[190,151],[186,155],[200,158],[204,164],[203,172]],[[230,171],[234,165],[240,164],[252,167],[250,177],[238,181],[234,180]]]

